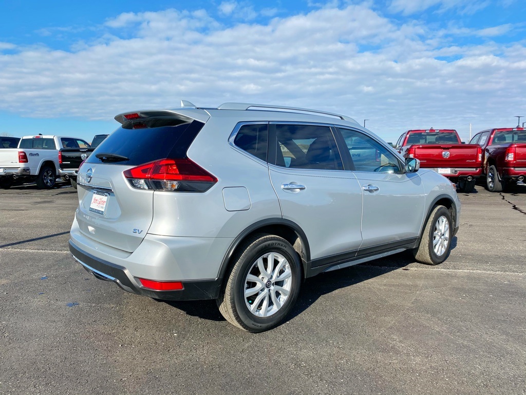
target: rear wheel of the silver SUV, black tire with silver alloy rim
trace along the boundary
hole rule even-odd
[[[232,258],[234,264],[225,277],[217,306],[223,317],[237,327],[254,333],[267,331],[285,319],[298,299],[301,284],[298,254],[285,239],[265,233],[247,240],[238,251]],[[270,270],[270,274],[262,274],[260,265]],[[284,280],[277,281],[279,278]],[[249,284],[254,287],[248,288]]]

